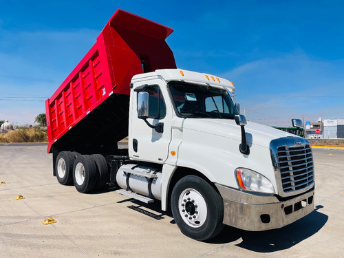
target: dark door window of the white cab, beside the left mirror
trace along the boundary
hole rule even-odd
[[[166,116],[166,105],[158,85],[146,88],[149,93],[149,118],[164,118]]]

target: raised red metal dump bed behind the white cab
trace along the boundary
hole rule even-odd
[[[173,30],[117,10],[96,43],[45,101],[48,152],[98,149],[127,136],[131,77],[175,68]]]

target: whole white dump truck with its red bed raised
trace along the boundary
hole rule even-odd
[[[188,237],[280,228],[314,210],[310,142],[246,122],[233,83],[178,69],[173,30],[117,10],[45,102],[54,175],[171,208]],[[129,137],[128,149],[118,141]]]

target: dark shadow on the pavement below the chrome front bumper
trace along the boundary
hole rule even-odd
[[[242,241],[236,246],[255,252],[276,252],[288,249],[317,233],[327,222],[328,216],[316,209],[309,215],[283,228],[252,232],[226,226],[222,233],[208,241],[212,244],[226,244]]]

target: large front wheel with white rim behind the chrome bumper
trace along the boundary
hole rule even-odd
[[[224,227],[221,196],[213,186],[195,175],[186,175],[175,184],[171,209],[182,233],[195,240],[211,239]]]

